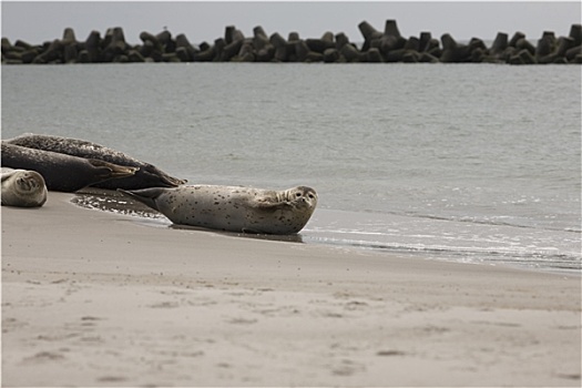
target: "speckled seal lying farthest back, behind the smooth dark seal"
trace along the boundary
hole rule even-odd
[[[123,152],[79,139],[25,133],[14,139],[6,140],[9,144],[34,150],[51,151],[83,159],[94,159],[116,165],[139,167],[135,174],[115,181],[92,184],[100,188],[137,190],[146,187],[175,187],[186,183],[185,180],[170,176],[156,166],[139,161]]]

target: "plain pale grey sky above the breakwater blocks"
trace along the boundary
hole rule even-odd
[[[110,27],[122,27],[127,42],[141,43],[142,31],[155,34],[166,27],[174,37],[185,33],[191,43],[212,43],[226,25],[246,37],[262,25],[284,38],[292,31],[302,38],[331,31],[359,42],[360,21],[381,31],[387,19],[396,19],[405,37],[429,31],[435,38],[448,32],[457,40],[492,40],[498,32],[521,31],[535,42],[543,31],[568,35],[570,25],[581,22],[580,1],[2,1],[1,11],[2,37],[35,44],[62,38],[67,27],[80,41],[92,30],[103,35]]]

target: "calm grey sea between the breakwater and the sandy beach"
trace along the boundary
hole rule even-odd
[[[300,237],[581,268],[581,70],[488,64],[2,65],[2,139],[90,140],[191,183],[309,185]]]

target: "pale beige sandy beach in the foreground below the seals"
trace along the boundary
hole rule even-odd
[[[3,386],[576,386],[581,278],[2,207]]]

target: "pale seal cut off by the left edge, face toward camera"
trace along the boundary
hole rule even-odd
[[[2,206],[40,207],[47,202],[47,185],[35,171],[2,167]]]

